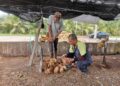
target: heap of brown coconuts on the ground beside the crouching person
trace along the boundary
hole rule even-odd
[[[72,59],[68,58],[46,58],[43,61],[43,71],[46,74],[62,73],[67,70],[66,65],[71,61]]]

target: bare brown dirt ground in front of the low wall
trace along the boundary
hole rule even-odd
[[[88,74],[72,68],[61,74],[38,72],[38,57],[28,67],[29,57],[0,57],[0,86],[120,86],[120,55],[107,56],[107,67],[101,65],[102,56],[93,56]]]

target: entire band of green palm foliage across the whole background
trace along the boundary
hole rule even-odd
[[[41,34],[46,34],[47,32],[47,19],[44,19],[44,24],[45,28],[41,30]],[[35,34],[37,26],[37,23],[23,21],[14,15],[0,18],[0,34]],[[94,26],[94,24],[64,20],[64,30],[67,32],[75,32],[78,35],[88,35],[93,33]],[[111,36],[120,36],[120,20],[100,20],[98,27],[99,31],[107,32]]]

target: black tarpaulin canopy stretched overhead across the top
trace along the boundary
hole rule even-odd
[[[0,0],[0,10],[28,21],[60,11],[70,19],[82,14],[113,20],[120,13],[120,0]],[[41,13],[41,11],[43,13]]]

